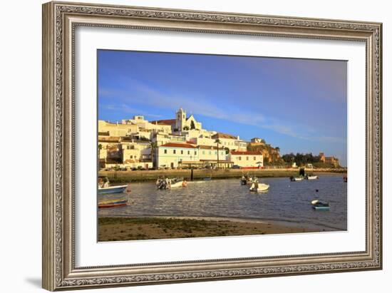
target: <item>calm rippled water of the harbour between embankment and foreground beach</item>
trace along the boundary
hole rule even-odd
[[[346,230],[347,183],[342,175],[299,182],[265,178],[261,182],[269,184],[268,192],[249,192],[239,179],[193,182],[173,190],[157,190],[155,183],[133,183],[130,205],[99,209],[98,215],[240,217]],[[125,197],[99,196],[99,200]],[[315,198],[329,202],[331,210],[313,210],[310,202]]]

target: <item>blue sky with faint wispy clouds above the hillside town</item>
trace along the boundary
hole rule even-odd
[[[346,165],[346,61],[98,50],[98,118],[175,118]]]

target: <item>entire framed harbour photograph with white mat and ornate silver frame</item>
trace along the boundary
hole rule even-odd
[[[43,4],[43,288],[382,268],[382,25]]]

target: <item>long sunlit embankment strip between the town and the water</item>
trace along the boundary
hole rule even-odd
[[[306,173],[318,175],[347,175],[346,169],[305,169]],[[241,178],[242,175],[252,175],[259,178],[289,178],[299,174],[299,169],[219,169],[204,170],[135,170],[135,171],[99,171],[99,176],[108,177],[110,183],[140,183],[155,181],[159,177],[185,178],[190,180],[203,180],[204,178],[229,179]]]

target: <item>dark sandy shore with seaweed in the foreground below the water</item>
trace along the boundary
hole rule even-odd
[[[101,242],[331,231],[337,230],[237,217],[98,217],[98,241]]]

